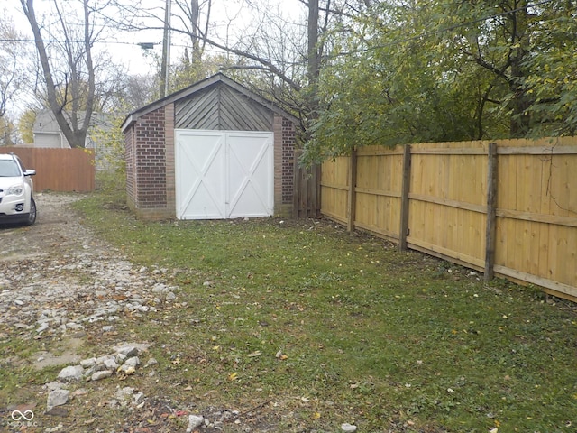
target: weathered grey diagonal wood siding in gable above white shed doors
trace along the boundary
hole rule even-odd
[[[222,84],[175,103],[177,129],[271,131],[273,113],[251,98]]]

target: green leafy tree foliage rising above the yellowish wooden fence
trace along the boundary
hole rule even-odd
[[[320,116],[305,159],[363,144],[569,133],[573,3],[372,5],[352,18],[354,32],[321,69]]]

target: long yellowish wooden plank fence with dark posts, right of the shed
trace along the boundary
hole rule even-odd
[[[577,300],[577,137],[362,147],[321,211],[407,248]]]

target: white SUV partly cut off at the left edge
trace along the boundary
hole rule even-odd
[[[0,153],[0,223],[34,224],[34,174],[36,170],[25,170],[14,153]]]

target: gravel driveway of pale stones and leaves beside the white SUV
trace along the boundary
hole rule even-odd
[[[81,197],[38,195],[36,225],[0,228],[0,337],[9,328],[32,338],[81,336],[95,322],[109,332],[120,310],[144,314],[174,299],[161,270],[133,269],[80,224],[69,204]]]

